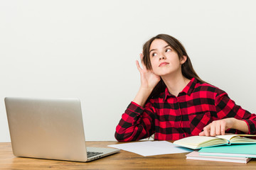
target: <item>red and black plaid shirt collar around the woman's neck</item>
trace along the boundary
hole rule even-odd
[[[189,83],[185,86],[185,88],[178,94],[178,96],[180,96],[181,94],[188,94],[188,96],[191,95],[191,93],[193,92],[193,89],[195,89],[196,84],[198,83],[197,79],[195,79],[194,77],[191,79],[191,81],[189,81]],[[164,91],[164,101],[166,100],[166,98],[168,96],[174,96],[173,94],[170,94],[167,87]]]

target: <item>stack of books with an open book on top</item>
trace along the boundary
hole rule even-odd
[[[176,140],[175,145],[196,149],[186,159],[247,163],[256,158],[256,135],[192,136]]]

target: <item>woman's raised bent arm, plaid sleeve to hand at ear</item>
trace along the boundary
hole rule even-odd
[[[141,60],[142,57],[140,54]],[[147,70],[143,62],[142,67],[138,61],[136,65],[141,75],[141,86],[117,125],[114,136],[119,142],[142,140],[154,133],[154,107],[152,103],[146,103],[146,100],[161,78]]]

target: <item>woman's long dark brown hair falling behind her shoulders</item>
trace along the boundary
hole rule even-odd
[[[166,35],[166,34],[156,35],[155,37],[151,38],[143,45],[144,57],[142,59],[142,62],[145,64],[146,69],[152,69],[150,57],[149,57],[149,49],[150,49],[151,43],[156,39],[164,40],[168,45],[170,45],[171,48],[175,52],[177,52],[178,58],[180,60],[183,58],[183,56],[187,57],[186,62],[184,62],[181,65],[181,73],[183,77],[186,77],[187,79],[195,78],[202,83],[206,83],[206,81],[203,81],[202,79],[200,79],[200,77],[198,77],[198,74],[196,74],[195,70],[193,69],[191,60],[188,57],[188,54],[186,53],[185,47],[183,47],[181,42],[179,42],[176,38],[172,37],[171,35]],[[159,96],[159,94],[161,94],[161,92],[163,92],[165,89],[166,89],[166,85],[164,84],[164,81],[161,79],[159,83],[155,86],[154,90],[151,92],[149,98],[154,98],[156,96]]]

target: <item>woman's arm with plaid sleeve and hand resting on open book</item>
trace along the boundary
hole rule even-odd
[[[235,129],[249,134],[256,133],[256,115],[236,105],[225,92],[215,99],[218,119],[203,128],[199,135],[225,135],[225,130]]]

